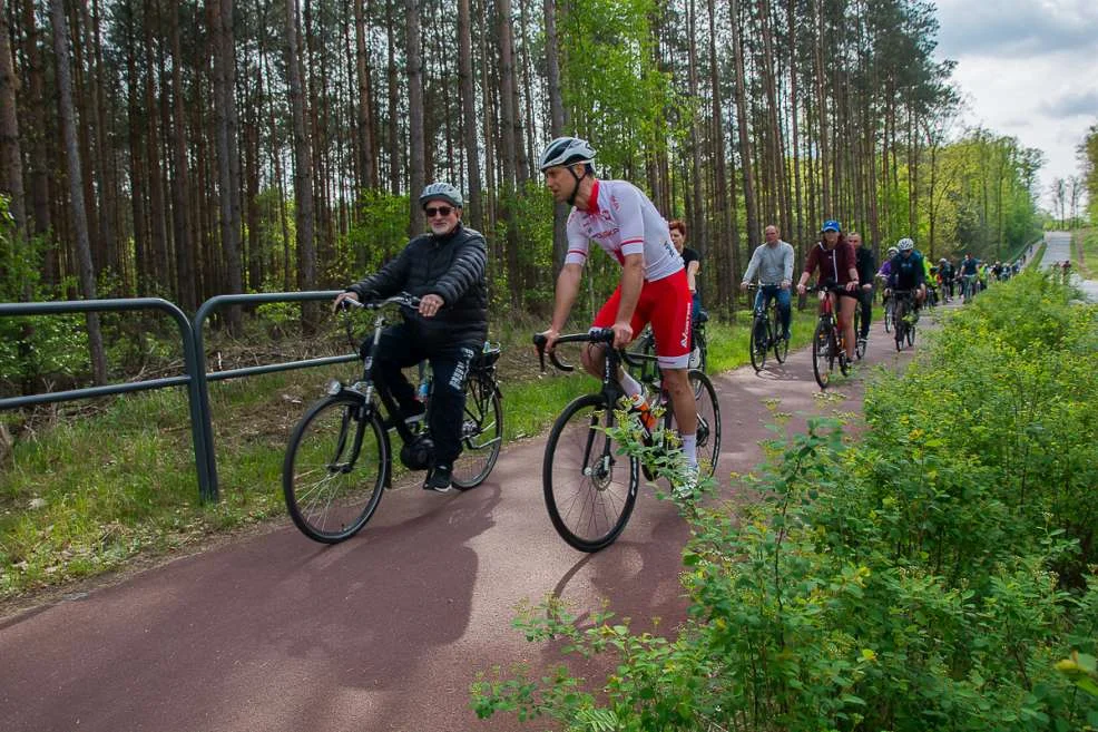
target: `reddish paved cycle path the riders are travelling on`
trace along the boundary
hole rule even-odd
[[[879,324],[866,361],[898,362]],[[860,411],[871,371],[833,388],[845,397],[839,404],[816,399],[806,351],[758,375],[747,367],[717,377],[722,474],[761,460],[758,441],[772,437],[764,399],[781,397],[801,429],[805,414]],[[615,545],[577,553],[546,516],[543,448],[542,439],[512,446],[468,494],[394,490],[339,546],[287,521],[0,622],[0,729],[535,729],[510,716],[478,722],[469,710],[477,671],[557,661],[510,628],[517,603],[556,592],[589,611],[610,598],[637,627],[658,616],[664,629],[686,608],[677,575],[687,528],[674,506],[643,490]],[[722,492],[734,490],[726,478]]]

